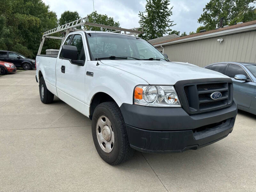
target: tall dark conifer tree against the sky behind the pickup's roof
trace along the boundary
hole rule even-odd
[[[169,5],[169,0],[147,0],[146,10],[139,12],[140,27],[144,30],[139,37],[150,40],[172,31],[170,27],[176,24],[170,19],[173,6],[169,9]]]

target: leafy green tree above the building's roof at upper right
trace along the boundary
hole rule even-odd
[[[203,24],[209,31],[216,28],[221,17],[224,18],[223,25],[230,25],[235,20],[243,21],[244,15],[254,10],[255,3],[255,0],[210,0],[205,5],[198,23]]]

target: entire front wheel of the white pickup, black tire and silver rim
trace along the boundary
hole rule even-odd
[[[115,102],[104,102],[95,108],[92,138],[98,154],[110,165],[123,163],[133,155],[123,115]]]

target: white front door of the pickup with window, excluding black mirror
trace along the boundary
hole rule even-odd
[[[85,68],[87,63],[85,44],[81,33],[68,36],[65,45],[76,46],[77,59],[84,60],[84,66],[72,64],[61,58],[61,50],[56,61],[56,88],[58,97],[71,107],[85,114]]]

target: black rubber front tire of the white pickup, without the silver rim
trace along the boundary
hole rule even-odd
[[[115,143],[110,153],[102,150],[97,139],[96,124],[100,116],[106,116],[110,120],[115,135]],[[128,141],[123,115],[115,102],[104,102],[95,108],[92,116],[92,138],[98,154],[110,165],[123,163],[134,153]]]

